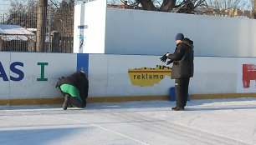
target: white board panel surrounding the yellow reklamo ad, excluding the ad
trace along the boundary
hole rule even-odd
[[[109,55],[108,60],[108,96],[166,95],[168,88],[174,86],[170,77],[164,77],[153,87],[141,87],[131,84],[128,69],[164,65],[156,56]]]

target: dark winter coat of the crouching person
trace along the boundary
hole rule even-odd
[[[59,87],[62,84],[70,84],[79,89],[79,96],[82,101],[85,102],[88,97],[89,82],[84,72],[74,72],[69,77],[60,78],[56,87]]]

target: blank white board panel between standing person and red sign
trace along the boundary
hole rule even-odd
[[[190,93],[235,93],[236,84],[236,57],[195,57]]]

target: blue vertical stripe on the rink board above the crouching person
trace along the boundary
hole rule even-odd
[[[82,68],[88,77],[89,72],[89,54],[88,53],[78,53],[77,54],[77,62],[76,62],[76,70],[80,71]]]

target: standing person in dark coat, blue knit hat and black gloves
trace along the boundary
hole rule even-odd
[[[177,97],[176,107],[172,110],[182,111],[187,103],[188,85],[190,77],[194,73],[194,46],[189,38],[184,38],[182,33],[176,35],[177,47],[172,54],[166,53],[161,57],[162,62],[170,60],[167,65],[173,62],[171,78],[175,79],[175,95]]]

